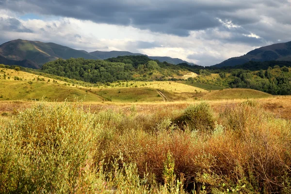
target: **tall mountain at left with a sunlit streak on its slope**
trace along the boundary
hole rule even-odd
[[[84,50],[71,49],[55,43],[21,39],[0,45],[0,56],[0,63],[21,66],[26,64],[27,67],[31,68],[40,68],[41,65],[58,58],[100,59]]]

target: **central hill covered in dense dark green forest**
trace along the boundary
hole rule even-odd
[[[183,65],[152,61],[146,56],[123,56],[108,60],[58,59],[42,66],[44,73],[91,83],[113,81],[167,81],[196,76]]]

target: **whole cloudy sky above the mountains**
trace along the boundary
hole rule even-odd
[[[0,44],[18,38],[208,66],[291,41],[291,0],[0,0]]]

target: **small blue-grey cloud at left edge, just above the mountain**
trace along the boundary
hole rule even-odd
[[[0,30],[8,32],[29,32],[32,30],[24,27],[22,23],[16,18],[3,18],[0,17]]]

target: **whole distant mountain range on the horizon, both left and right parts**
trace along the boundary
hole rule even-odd
[[[132,53],[128,51],[94,51],[87,52],[85,50],[76,50],[55,43],[43,43],[40,41],[29,40],[12,40],[0,45],[0,64],[5,65],[19,65],[30,68],[41,68],[41,66],[49,61],[56,59],[69,58],[84,58],[84,59],[99,59],[106,60],[118,56],[128,55],[144,55],[141,53]],[[195,65],[183,61],[178,58],[147,56],[152,60],[160,62],[167,62],[170,64],[187,63],[188,65]],[[291,61],[291,42],[278,43],[259,49],[249,51],[243,56],[233,57],[226,61],[212,65],[210,67],[236,66],[243,65],[249,61],[264,62],[264,61]]]

